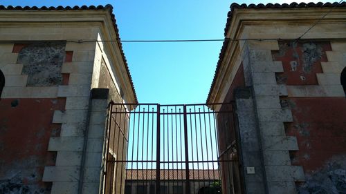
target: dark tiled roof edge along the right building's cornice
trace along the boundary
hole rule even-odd
[[[228,30],[230,29],[230,23],[232,22],[232,18],[233,18],[233,11],[235,9],[268,9],[268,8],[280,8],[280,9],[286,9],[286,8],[331,8],[331,7],[338,7],[338,8],[345,8],[346,7],[346,2],[343,1],[342,3],[283,3],[283,4],[279,4],[279,3],[268,3],[266,5],[260,3],[260,4],[250,4],[250,5],[246,5],[245,3],[243,3],[242,5],[239,5],[237,3],[232,3],[230,5],[230,11],[227,14],[227,22],[226,22],[226,28],[225,28],[225,32],[224,32],[224,36],[225,36],[225,41],[222,45],[220,54],[219,54],[219,61],[217,61],[217,68],[215,70],[215,74],[214,74],[214,79],[212,79],[212,85],[210,86],[210,90],[209,90],[209,94],[207,97],[207,103],[209,103],[210,100],[210,95],[212,93],[212,88],[214,88],[215,86],[215,81],[217,76],[219,75],[219,70],[220,70],[220,66],[222,63],[222,60],[224,59],[225,56],[225,52],[226,49],[228,47],[228,43],[230,43],[230,41],[226,41],[226,35],[228,33]]]

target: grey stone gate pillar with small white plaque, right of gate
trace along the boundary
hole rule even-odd
[[[260,133],[251,88],[235,90],[238,153],[247,194],[266,193]]]

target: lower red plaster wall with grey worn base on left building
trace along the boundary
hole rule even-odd
[[[0,193],[50,190],[42,175],[44,166],[55,165],[48,142],[60,135],[60,124],[52,124],[52,119],[64,104],[64,98],[0,100],[0,180],[5,184]]]

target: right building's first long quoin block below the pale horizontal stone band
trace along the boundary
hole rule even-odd
[[[260,122],[293,122],[291,110],[281,108],[261,108],[257,109]]]

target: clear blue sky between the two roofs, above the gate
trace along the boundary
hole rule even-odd
[[[224,39],[227,12],[236,3],[289,1],[12,0],[4,6],[111,4],[122,40]],[[140,103],[204,103],[222,42],[122,43]]]

